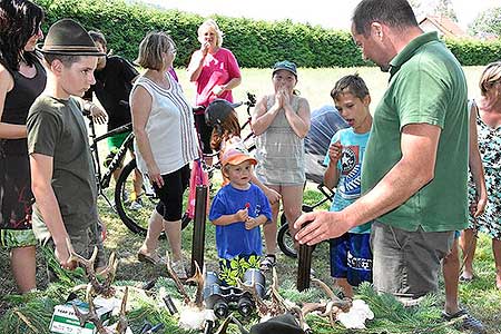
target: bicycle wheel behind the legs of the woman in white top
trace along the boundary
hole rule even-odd
[[[155,191],[148,190],[145,184],[141,185],[141,193],[137,195],[136,202],[140,205],[132,205],[129,195],[134,191],[134,170],[136,169],[136,159],[130,160],[121,170],[120,176],[115,186],[115,205],[121,222],[132,233],[146,236],[148,230],[148,220],[151,212],[155,209],[158,197]],[[191,219],[185,214],[181,218],[181,228],[188,226]],[[161,233],[165,238],[165,233]]]

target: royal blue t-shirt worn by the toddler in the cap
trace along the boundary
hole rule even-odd
[[[210,206],[209,220],[214,222],[220,216],[233,215],[246,208],[248,216],[256,218],[265,215],[272,220],[272,208],[262,189],[250,184],[247,190],[234,188],[230,184],[217,191]],[[259,226],[245,229],[244,222],[225,226],[216,225],[216,245],[219,258],[232,259],[236,256],[262,255],[262,239]]]

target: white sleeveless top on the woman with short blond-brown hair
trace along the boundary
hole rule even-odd
[[[134,84],[145,88],[151,96],[151,112],[146,124],[146,134],[151,153],[161,175],[178,170],[186,164],[198,158],[197,135],[191,111],[183,89],[174,78],[167,73],[170,88],[165,89],[153,80],[140,76]],[[146,161],[134,140],[137,166],[143,174],[147,174]]]

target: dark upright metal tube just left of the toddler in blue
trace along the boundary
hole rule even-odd
[[[204,267],[204,249],[205,249],[205,223],[207,218],[207,186],[197,186],[195,193],[195,219],[193,226],[193,244],[191,244],[191,276],[195,274],[195,261]]]

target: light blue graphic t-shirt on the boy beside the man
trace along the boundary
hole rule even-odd
[[[337,180],[336,193],[331,205],[331,212],[341,212],[350,204],[354,203],[361,195],[362,161],[365,154],[365,146],[369,141],[370,131],[355,134],[353,128],[338,130],[331,140],[340,141],[343,146],[341,159],[337,161],[340,178]],[[331,158],[328,151],[325,155],[324,165],[328,166]],[[355,226],[350,233],[371,233],[372,222]]]

